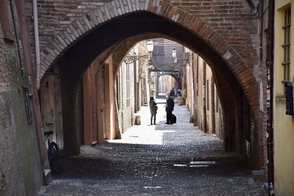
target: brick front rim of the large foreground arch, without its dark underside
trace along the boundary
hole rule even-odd
[[[106,6],[98,7],[83,15],[59,32],[41,51],[41,78],[68,48],[99,28],[99,26],[116,18],[126,16],[126,14],[143,11],[160,16],[167,21],[172,21],[178,26],[185,27],[187,31],[192,32],[203,43],[207,44],[204,47],[210,47],[216,51],[238,79],[245,94],[248,96],[253,110],[258,109],[258,101],[253,98],[258,93],[253,74],[250,73],[235,49],[219,33],[207,25],[206,22],[164,1],[134,1],[133,4],[129,3],[128,1],[126,2],[124,9],[120,6],[113,6],[111,2],[107,3],[105,4]],[[197,50],[196,48],[196,51],[201,53],[200,49]],[[104,59],[106,58],[104,57]]]

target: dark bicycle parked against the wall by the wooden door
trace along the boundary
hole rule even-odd
[[[44,123],[44,126],[47,127],[53,127],[50,126],[53,125],[52,123]],[[55,142],[50,142],[50,135],[53,134],[53,131],[45,131],[45,142],[47,141],[48,144],[48,159],[49,159],[49,165],[50,169],[54,169],[54,171],[57,174],[61,173],[61,158],[60,158],[60,153],[59,153],[59,148],[58,145]]]

